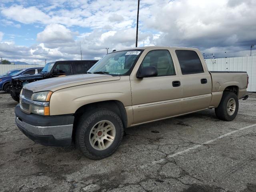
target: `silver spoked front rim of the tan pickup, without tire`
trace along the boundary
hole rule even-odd
[[[114,124],[108,120],[103,120],[92,127],[89,140],[94,149],[104,150],[113,143],[115,136],[116,128]]]

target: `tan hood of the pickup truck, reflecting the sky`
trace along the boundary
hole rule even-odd
[[[33,92],[40,91],[56,91],[68,87],[79,86],[84,84],[92,84],[98,82],[120,80],[119,76],[111,76],[104,74],[79,74],[64,77],[55,77],[35,81],[24,86],[25,89]]]

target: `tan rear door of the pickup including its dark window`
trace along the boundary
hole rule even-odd
[[[175,50],[181,70],[182,113],[208,108],[212,94],[210,74],[195,50]]]

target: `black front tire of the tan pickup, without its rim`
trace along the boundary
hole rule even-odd
[[[93,126],[102,120],[110,121],[116,128],[116,135],[112,144],[104,150],[96,150],[90,144],[89,136]],[[97,109],[83,114],[75,131],[76,147],[89,159],[99,160],[112,155],[120,145],[124,135],[124,126],[121,118],[108,109]]]

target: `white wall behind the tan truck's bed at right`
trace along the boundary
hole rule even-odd
[[[256,56],[206,59],[209,71],[246,71],[248,91],[256,92]]]

